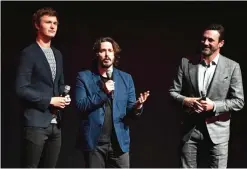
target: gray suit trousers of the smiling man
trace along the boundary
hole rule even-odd
[[[206,126],[196,128],[191,138],[182,143],[180,162],[182,168],[226,168],[228,159],[228,142],[214,144]],[[202,160],[202,163],[201,163]],[[206,161],[204,161],[206,160]]]

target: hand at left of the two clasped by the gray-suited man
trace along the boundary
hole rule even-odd
[[[183,104],[188,107],[190,110],[195,111],[197,113],[201,113],[204,111],[201,103],[200,103],[201,98],[197,97],[186,97],[184,99]]]

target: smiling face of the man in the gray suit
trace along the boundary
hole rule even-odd
[[[211,56],[224,45],[224,40],[219,41],[220,34],[217,30],[206,30],[201,40],[201,53],[203,56]]]

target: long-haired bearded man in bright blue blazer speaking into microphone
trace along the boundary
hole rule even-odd
[[[128,119],[141,115],[149,91],[136,101],[131,75],[115,68],[121,49],[112,38],[99,38],[93,49],[93,67],[78,73],[75,89],[86,167],[129,168]]]

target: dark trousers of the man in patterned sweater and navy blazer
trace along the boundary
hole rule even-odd
[[[61,130],[56,124],[47,128],[24,127],[24,168],[55,168],[61,147]]]

